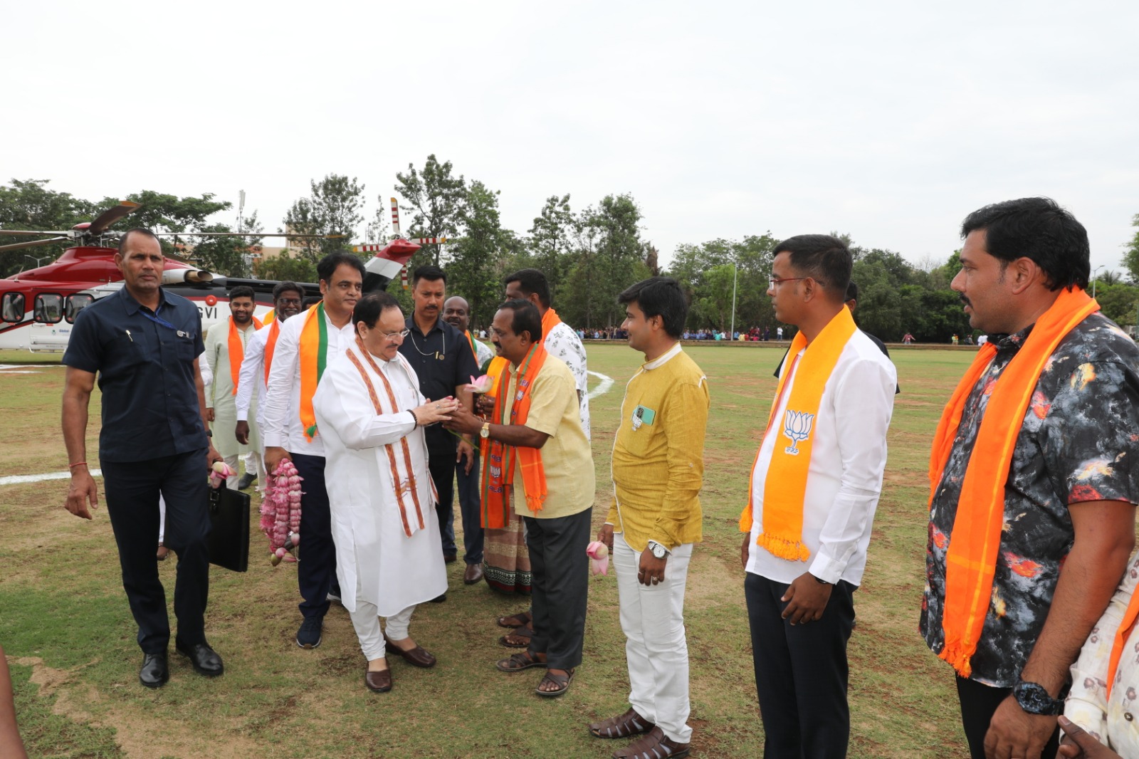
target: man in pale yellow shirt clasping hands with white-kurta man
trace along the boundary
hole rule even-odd
[[[500,528],[511,504],[526,524],[534,635],[525,652],[497,667],[546,667],[535,692],[559,696],[581,663],[585,635],[593,457],[573,374],[546,352],[538,308],[524,300],[503,303],[491,323],[491,342],[510,365],[490,393],[490,421],[460,409],[445,426],[483,441],[485,524]]]

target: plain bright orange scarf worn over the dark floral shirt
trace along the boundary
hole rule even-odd
[[[1005,483],[1013,462],[1016,439],[1024,425],[1024,414],[1040,379],[1040,373],[1056,346],[1073,327],[1099,310],[1099,304],[1081,288],[1060,291],[1052,305],[1036,320],[1024,345],[997,378],[985,416],[965,468],[957,516],[945,554],[945,601],[942,628],[945,645],[937,654],[961,677],[973,671],[969,663],[984,627],[997,571],[1005,523]],[[929,506],[941,484],[941,476],[953,450],[965,403],[997,354],[997,346],[985,343],[957,385],[929,454]]]

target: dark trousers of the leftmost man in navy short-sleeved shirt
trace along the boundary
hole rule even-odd
[[[210,511],[206,504],[206,450],[146,462],[105,462],[103,487],[107,515],[118,545],[118,564],[131,614],[139,626],[144,653],[162,653],[170,644],[166,591],[158,579],[158,495],[166,500],[164,542],[178,555],[174,615],[178,639],[187,646],[206,642],[210,597]]]

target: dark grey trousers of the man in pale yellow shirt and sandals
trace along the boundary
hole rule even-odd
[[[581,664],[589,598],[585,548],[592,516],[590,507],[571,516],[524,517],[534,577],[531,593],[534,635],[530,638],[530,653],[544,653],[547,666],[552,669]]]

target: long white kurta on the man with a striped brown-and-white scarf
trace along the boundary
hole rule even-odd
[[[355,352],[387,410],[384,381]],[[360,598],[375,604],[380,617],[429,601],[446,591],[446,570],[440,541],[439,520],[427,470],[427,443],[423,427],[407,413],[421,405],[419,378],[403,357],[384,361],[372,357],[392,385],[400,413],[377,415],[368,387],[344,353],[325,369],[313,395],[317,425],[325,441],[325,482],[336,544],[336,576],[345,590],[342,602],[355,611],[350,588],[359,582]],[[400,440],[407,438],[424,528],[411,537],[403,531],[395,499],[392,466],[384,446],[392,443],[402,467]],[[303,487],[303,485],[302,485]],[[408,498],[408,521],[418,528],[415,506]]]

